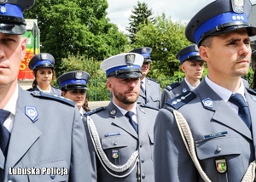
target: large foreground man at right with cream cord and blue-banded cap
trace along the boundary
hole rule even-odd
[[[256,35],[251,9],[249,0],[217,0],[189,21],[185,35],[208,74],[155,120],[155,181],[254,181],[256,94],[241,81]]]

